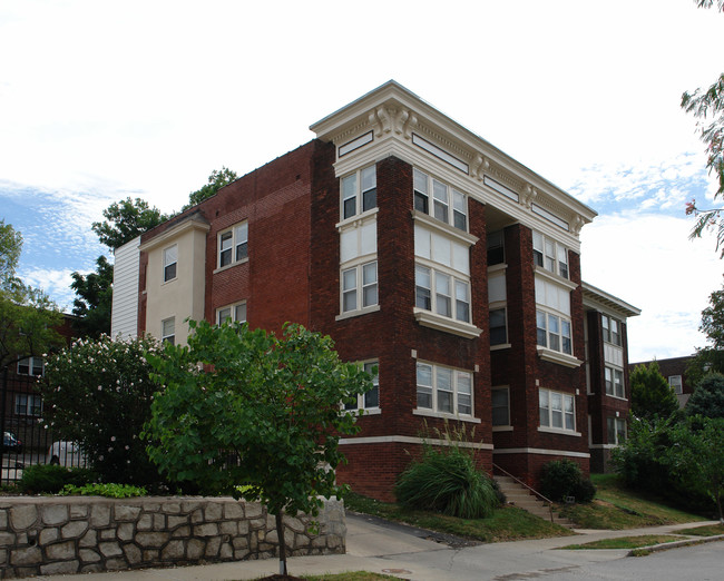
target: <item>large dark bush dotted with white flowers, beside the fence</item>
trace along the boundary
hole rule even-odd
[[[150,337],[78,339],[46,365],[41,422],[78,442],[105,482],[155,484],[160,477],[138,437],[150,418],[157,384],[146,353],[163,353]]]

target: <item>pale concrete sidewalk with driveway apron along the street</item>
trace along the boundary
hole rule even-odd
[[[415,581],[483,580],[501,575],[570,572],[585,563],[623,559],[628,550],[555,550],[574,543],[634,536],[676,534],[677,530],[706,521],[626,531],[575,531],[578,535],[489,543],[452,549],[429,539],[425,532],[382,523],[364,515],[348,514],[346,554],[295,557],[287,561],[290,574],[324,574],[372,571]],[[235,561],[174,569],[146,569],[111,573],[38,577],[43,581],[196,581],[250,580],[278,572],[278,561]],[[537,575],[536,575],[537,577]]]

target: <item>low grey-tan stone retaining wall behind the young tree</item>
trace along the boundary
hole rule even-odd
[[[327,501],[319,534],[284,519],[287,554],[344,553],[341,501]],[[274,516],[231,498],[0,499],[0,578],[116,571],[277,554]]]

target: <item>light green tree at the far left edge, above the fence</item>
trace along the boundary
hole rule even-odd
[[[33,355],[42,355],[62,339],[58,307],[39,288],[16,277],[22,236],[0,220],[0,370]]]

